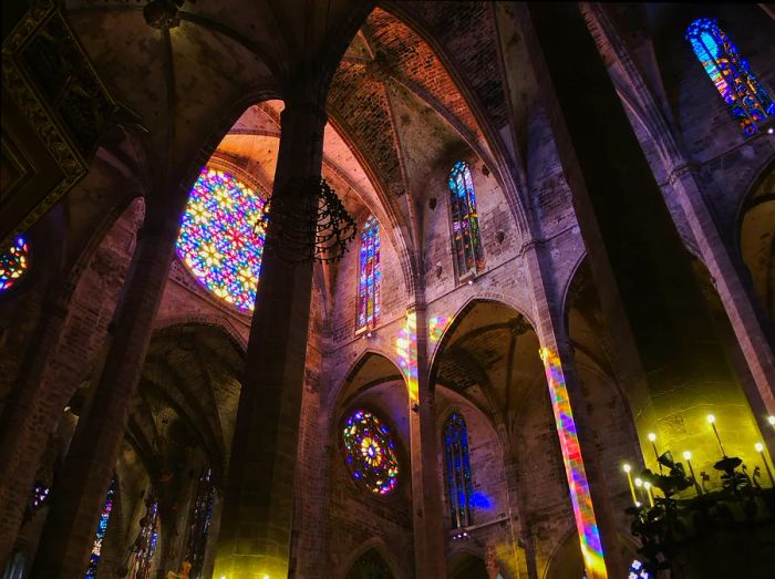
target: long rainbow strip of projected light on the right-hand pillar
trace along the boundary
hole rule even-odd
[[[585,567],[590,578],[606,578],[606,561],[603,560],[602,545],[600,544],[600,531],[595,520],[592,498],[589,495],[587,474],[581,459],[581,448],[576,432],[574,414],[568,400],[568,389],[565,385],[565,376],[557,354],[548,348],[541,348],[539,355],[546,369],[546,379],[549,383],[551,394],[551,409],[557,421],[557,434],[560,438],[562,449],[562,461],[565,472],[570,487],[570,502],[574,505],[574,516],[576,518],[576,529],[581,541],[581,554],[585,559]]]

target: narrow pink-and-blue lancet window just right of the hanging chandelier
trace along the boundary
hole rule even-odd
[[[361,265],[358,278],[358,332],[380,321],[380,224],[372,215],[361,231]]]

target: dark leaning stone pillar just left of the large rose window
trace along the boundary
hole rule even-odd
[[[102,374],[52,489],[31,577],[74,579],[85,572],[175,252],[183,200],[166,211],[148,207]]]

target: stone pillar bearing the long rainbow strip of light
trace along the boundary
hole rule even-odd
[[[576,529],[588,579],[624,577],[618,526],[596,447],[595,425],[585,409],[572,348],[554,296],[545,249],[529,244],[524,252],[534,297],[536,333],[547,375],[557,435],[562,452]],[[624,529],[622,529],[624,530]]]

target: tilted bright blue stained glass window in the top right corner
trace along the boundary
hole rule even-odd
[[[756,123],[767,115],[775,115],[773,100],[715,19],[699,18],[692,22],[686,40],[746,135],[753,135]]]

